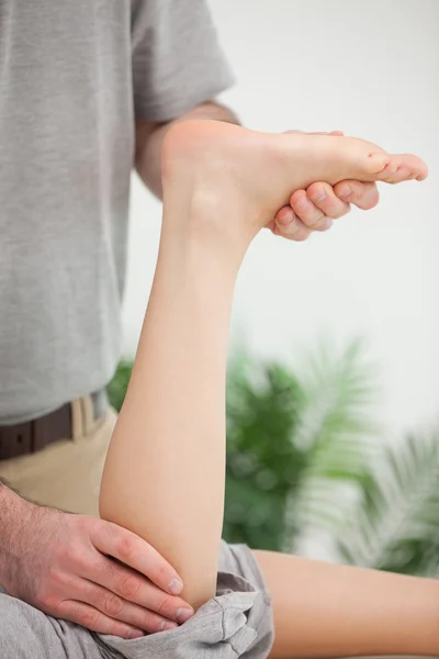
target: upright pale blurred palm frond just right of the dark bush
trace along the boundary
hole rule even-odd
[[[357,339],[339,355],[322,343],[305,360],[299,379],[303,404],[292,442],[306,450],[301,487],[290,498],[288,524],[334,530],[345,520],[380,444],[378,424],[368,414],[376,398],[375,370]],[[288,549],[301,541],[291,537]]]

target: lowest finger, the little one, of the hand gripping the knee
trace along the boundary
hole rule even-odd
[[[98,634],[110,634],[122,638],[140,638],[142,629],[115,621],[89,604],[76,600],[65,600],[57,610],[57,617],[71,621]]]

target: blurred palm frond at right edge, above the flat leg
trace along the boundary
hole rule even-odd
[[[338,549],[354,565],[438,574],[439,432],[385,449]]]

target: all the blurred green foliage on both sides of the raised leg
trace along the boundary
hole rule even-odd
[[[116,410],[131,369],[123,361],[109,386]],[[297,372],[235,354],[224,538],[297,551],[324,533],[344,562],[436,576],[439,433],[390,448],[370,421],[376,391],[361,342],[320,345]]]

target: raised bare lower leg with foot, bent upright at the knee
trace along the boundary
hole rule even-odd
[[[249,243],[292,190],[315,179],[425,176],[418,158],[391,157],[357,139],[273,136],[215,122],[168,134],[159,261],[101,513],[153,543],[182,574],[195,607],[215,591],[226,336]],[[344,633],[345,624],[339,639]]]

